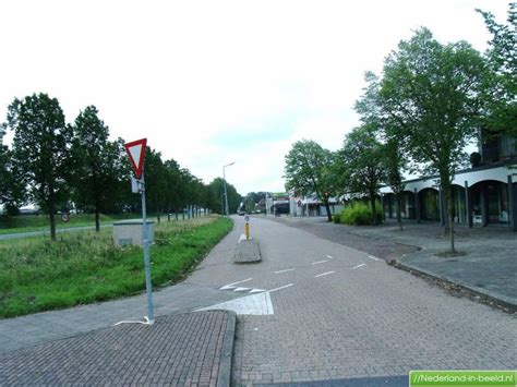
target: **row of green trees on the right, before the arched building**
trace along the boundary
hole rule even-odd
[[[286,156],[286,189],[316,194],[327,214],[330,196],[361,193],[374,214],[378,190],[387,184],[397,196],[400,221],[404,171],[436,174],[454,252],[452,183],[468,160],[466,145],[480,129],[488,137],[517,136],[516,11],[510,3],[508,24],[497,24],[478,10],[493,36],[484,56],[466,41],[442,45],[426,28],[401,41],[385,59],[382,76],[366,73],[354,106],[361,124],[340,150],[312,141],[293,144]]]

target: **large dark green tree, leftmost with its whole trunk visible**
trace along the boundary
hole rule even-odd
[[[71,131],[56,98],[34,94],[14,99],[8,109],[8,125],[14,130],[13,162],[28,188],[28,198],[50,218],[50,238],[56,241],[56,206],[68,197]]]

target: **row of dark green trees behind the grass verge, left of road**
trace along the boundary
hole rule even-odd
[[[56,98],[46,94],[14,99],[4,128],[14,132],[12,147],[0,147],[0,204],[16,214],[27,204],[37,204],[50,218],[56,240],[58,210],[75,208],[95,214],[136,211],[139,196],[131,193],[131,167],[124,141],[109,140],[109,129],[94,106],[86,107],[67,124]],[[204,184],[173,159],[146,149],[146,193],[151,211],[182,213],[184,208],[221,211],[223,179]],[[231,210],[240,203],[235,186],[228,184]]]

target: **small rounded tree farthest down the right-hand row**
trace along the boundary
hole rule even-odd
[[[324,149],[314,141],[302,140],[292,145],[286,155],[284,178],[286,190],[297,195],[315,194],[327,210],[332,221],[330,196],[337,193],[337,181],[333,173],[335,157],[330,150]]]

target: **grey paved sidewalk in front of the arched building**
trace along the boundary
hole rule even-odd
[[[409,268],[461,285],[517,309],[517,234],[508,227],[456,225],[456,249],[466,255],[444,258],[436,253],[449,249],[449,240],[438,222],[408,220],[400,231],[394,220],[377,227],[334,225],[321,217],[275,220],[385,259],[396,258]]]

